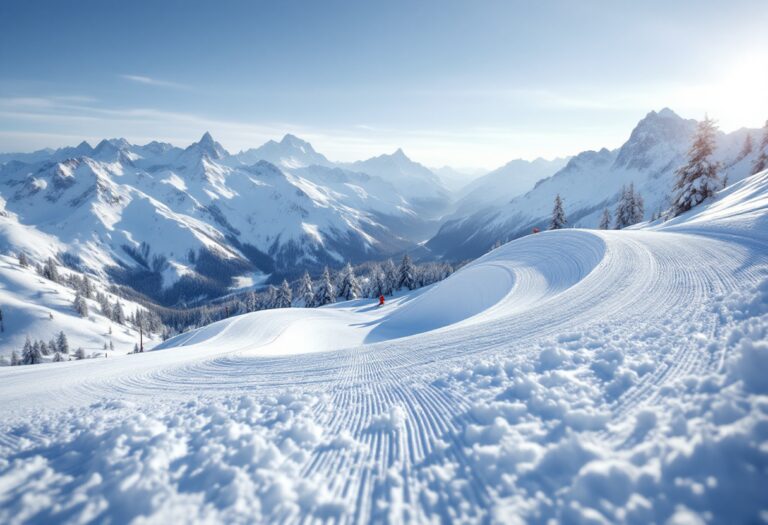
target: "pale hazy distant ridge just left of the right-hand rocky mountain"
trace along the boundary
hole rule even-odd
[[[462,217],[488,206],[500,206],[522,195],[565,166],[567,158],[516,159],[467,184],[459,192],[452,216]]]

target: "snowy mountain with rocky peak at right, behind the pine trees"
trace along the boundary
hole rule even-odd
[[[582,152],[524,195],[453,216],[426,246],[433,255],[450,260],[477,257],[499,241],[526,235],[533,227],[547,228],[557,194],[564,199],[569,226],[594,228],[605,207],[613,213],[622,186],[630,183],[643,196],[646,219],[650,218],[669,208],[674,172],[685,162],[695,128],[695,120],[683,119],[668,108],[651,111],[620,148]],[[753,151],[739,158],[747,133],[755,139],[760,136],[758,130],[739,130],[717,137],[714,156],[730,182],[747,176],[757,155]]]

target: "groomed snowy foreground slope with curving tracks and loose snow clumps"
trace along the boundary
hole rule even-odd
[[[767,253],[762,172],[384,308],[0,369],[0,521],[758,522]]]

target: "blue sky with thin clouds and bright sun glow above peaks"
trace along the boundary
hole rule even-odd
[[[0,151],[294,133],[431,166],[616,147],[652,109],[768,118],[768,2],[0,3]]]

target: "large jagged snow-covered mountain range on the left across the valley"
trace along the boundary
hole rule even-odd
[[[296,137],[279,144],[325,159]],[[225,293],[238,275],[279,280],[395,255],[436,229],[383,178],[235,157],[205,133],[183,150],[107,139],[6,161],[0,243],[175,304]]]

